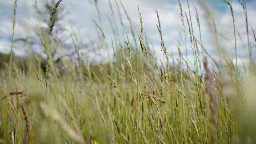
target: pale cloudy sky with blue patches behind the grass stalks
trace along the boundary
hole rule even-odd
[[[12,35],[12,10],[13,3],[15,0],[0,0],[0,52],[8,53],[10,51],[10,38]],[[39,8],[42,7],[42,2],[44,0],[37,0]],[[108,17],[111,17],[111,8],[108,0],[97,0],[98,6],[101,14],[101,25],[107,36],[108,43],[111,44],[110,37],[113,36],[111,30],[111,24],[108,20]],[[124,21],[125,27],[129,28],[128,20],[124,14],[123,9],[120,5],[120,0],[116,0],[119,4],[122,19]],[[189,0],[191,15],[192,15],[192,24],[193,30],[196,39],[200,39],[199,30],[196,23],[196,11],[194,6],[197,8],[201,32],[202,32],[202,42],[207,51],[213,56],[216,55],[217,50],[216,46],[213,43],[212,29],[209,28],[207,24],[208,15],[205,14],[204,6],[200,3],[201,0]],[[118,10],[116,7],[115,0],[110,0],[114,18],[117,21],[117,27],[120,30],[120,39],[124,40],[122,37],[125,35],[122,31],[120,25],[120,19],[118,16]],[[161,56],[160,51],[160,36],[156,28],[157,17],[156,12],[159,12],[164,43],[167,47],[169,53],[173,51],[175,57],[178,56],[178,50],[176,48],[176,42],[180,41],[180,37],[184,39],[184,33],[182,32],[182,23],[180,21],[180,8],[178,0],[122,0],[126,11],[133,20],[135,27],[139,28],[139,15],[137,6],[140,7],[140,11],[143,16],[145,33],[148,36],[149,40],[152,42],[153,50],[156,52],[157,56]],[[188,6],[186,0],[181,0],[182,7],[184,12],[188,14]],[[222,43],[222,46],[227,50],[227,52],[232,56],[235,52],[234,44],[234,35],[233,35],[233,24],[232,16],[229,7],[224,4],[223,0],[205,0],[208,4],[208,7],[211,8],[211,14],[216,22],[216,28],[218,31],[219,39]],[[239,3],[239,0],[232,0],[232,7],[234,10],[235,16],[235,25],[236,25],[236,37],[237,37],[237,48],[238,48],[238,57],[241,63],[241,60],[245,63],[247,62],[248,57],[248,43],[246,35],[246,24],[244,18],[244,11]],[[248,9],[248,22],[252,28],[256,28],[256,0],[247,0],[247,9]],[[97,39],[97,31],[93,20],[96,20],[99,23],[98,14],[95,7],[94,0],[63,0],[60,4],[60,7],[64,7],[68,14],[65,16],[63,24],[65,28],[76,30],[77,35],[80,37],[84,43],[89,42],[88,35],[92,39]],[[185,16],[185,14],[184,14]],[[36,11],[34,8],[34,0],[18,0],[18,10],[17,10],[17,23],[15,28],[15,37],[25,37],[25,36],[35,36],[32,32],[32,25],[36,21]],[[188,33],[187,21],[185,20],[185,30]],[[139,29],[137,29],[139,31]],[[128,33],[129,29],[128,29]],[[180,35],[181,33],[181,35]],[[130,34],[129,34],[130,36]],[[253,35],[250,29],[250,40],[252,44]],[[181,40],[183,53],[184,53],[184,41]],[[187,42],[189,43],[189,36],[187,36]],[[252,46],[252,49],[255,49]],[[15,54],[24,55],[28,48],[19,47],[18,44],[15,44]],[[193,53],[192,49],[188,45],[188,57],[192,59]],[[256,58],[255,53],[253,57]]]

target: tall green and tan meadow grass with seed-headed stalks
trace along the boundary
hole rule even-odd
[[[125,5],[118,2],[119,11],[125,12],[123,17],[130,24],[124,36],[116,33],[123,41],[122,47],[114,48],[119,40],[109,43],[101,24],[94,21],[108,55],[107,62],[91,64],[82,58],[78,52],[80,41],[72,35],[77,61],[63,59],[60,68],[52,57],[59,47],[52,32],[61,2],[52,8],[48,31],[39,28],[39,18],[35,27],[47,57],[27,56],[19,65],[12,50],[19,8],[14,4],[11,53],[0,75],[0,143],[256,143],[256,67],[252,53],[256,38],[247,21],[245,1],[240,1],[248,36],[248,64],[244,67],[237,62],[239,47],[231,3],[223,4],[229,6],[234,20],[232,56],[221,47],[210,9],[202,3],[209,27],[214,29],[212,41],[218,58],[204,48],[201,33],[200,37],[194,35],[194,31],[200,30],[199,17],[196,16],[197,25],[192,25],[190,9],[184,14],[180,4],[181,27],[189,28],[186,48],[193,49],[191,65],[180,42],[176,43],[179,59],[169,56],[172,52],[164,44],[157,11],[161,58],[152,52],[139,6],[140,28],[136,31]],[[182,2],[191,7],[189,1]],[[115,26],[112,29],[116,31]]]

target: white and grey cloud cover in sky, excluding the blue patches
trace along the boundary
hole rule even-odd
[[[114,8],[114,13],[115,13],[114,17],[119,27],[119,32],[121,32],[120,39],[123,40],[122,36],[125,35],[125,33],[122,32],[120,20],[117,14],[116,4],[114,0],[110,0],[110,1],[112,2],[112,6]],[[101,13],[102,26],[103,26],[105,35],[108,36],[109,45],[111,45],[110,36],[112,35],[112,30],[111,30],[109,21],[106,17],[106,15],[110,16],[111,14],[108,0],[98,0],[98,2],[99,2],[100,13]],[[183,6],[184,12],[187,12],[187,14],[189,14],[188,7],[185,0],[182,0],[182,2],[183,2],[182,6]],[[255,10],[255,6],[253,6],[253,4],[255,5],[255,3],[256,2],[250,2],[250,4],[248,4],[248,20],[249,20],[249,23],[252,24],[252,26],[256,25],[256,19],[254,18],[254,16],[256,15],[256,10]],[[12,8],[12,3],[9,0],[1,1],[0,4],[9,5],[8,8]],[[24,28],[24,24],[21,24],[21,21],[23,21],[23,19],[34,20],[31,17],[36,17],[35,10],[32,7],[33,0],[20,0],[18,4],[19,4],[18,12],[20,13],[17,16],[18,21],[17,21],[17,27],[16,27],[16,31],[17,31],[16,36],[24,36],[23,35],[25,33],[24,29],[28,29],[28,28]],[[156,9],[160,15],[164,42],[166,47],[168,48],[168,53],[170,54],[171,53],[170,50],[172,49],[174,54],[176,56],[178,55],[175,41],[180,40],[180,37],[179,37],[180,32],[183,38],[184,38],[184,34],[182,33],[182,30],[180,28],[181,26],[180,8],[179,8],[179,5],[177,4],[177,1],[170,2],[170,0],[123,0],[123,4],[125,5],[125,8],[129,16],[135,22],[135,25],[138,28],[137,29],[138,32],[139,32],[140,22],[139,22],[137,5],[140,7],[140,10],[143,15],[143,20],[144,20],[145,32],[147,36],[150,38],[150,40],[152,40],[152,44],[155,47],[156,54],[161,57],[160,37],[156,28],[156,23],[157,23],[157,17],[155,12],[155,9]],[[203,41],[204,47],[207,49],[208,52],[210,52],[210,54],[216,56],[217,54],[216,46],[213,42],[213,37],[211,34],[212,32],[210,31],[207,24],[207,20],[205,19],[203,8],[201,8],[201,6],[198,3],[196,3],[196,1],[191,1],[190,5],[191,5],[190,10],[191,10],[191,16],[192,16],[192,24],[193,24],[193,30],[194,30],[193,32],[194,32],[194,35],[196,36],[196,39],[199,40],[200,38],[199,38],[199,30],[198,30],[198,26],[195,18],[196,13],[193,6],[196,6],[199,13],[200,26],[201,26],[201,32],[202,32],[202,41]],[[225,4],[223,2],[218,2],[218,4],[216,4],[216,7],[218,7],[219,5],[225,5]],[[64,0],[60,4],[60,7],[61,6],[65,6],[69,12],[69,14],[66,16],[66,21],[64,22],[66,23],[67,28],[71,28],[71,29],[74,28],[74,26],[69,22],[69,20],[71,20],[79,28],[78,34],[79,36],[81,36],[82,40],[88,41],[87,34],[89,34],[93,38],[97,37],[96,29],[94,27],[92,19],[95,19],[96,21],[98,21],[98,15],[96,13],[96,8],[93,0]],[[128,29],[129,28],[128,20],[126,19],[126,16],[124,15],[124,12],[120,4],[119,6],[121,8],[123,21],[126,25],[126,28]],[[245,25],[243,8],[238,3],[238,1],[234,1],[232,3],[232,6],[235,13],[236,29],[238,32],[240,32],[242,40],[246,45],[247,36],[246,36],[246,25]],[[42,5],[40,5],[39,7],[42,7]],[[29,12],[30,14],[28,14]],[[234,35],[233,35],[233,29],[232,29],[233,28],[232,16],[228,6],[224,6],[224,10],[214,12],[214,17],[215,17],[216,27],[218,32],[221,35],[225,36],[228,40],[230,40],[230,42],[221,36],[219,36],[219,40],[222,42],[223,47],[227,49],[227,52],[234,56],[235,51],[234,51],[234,38],[233,38]],[[0,20],[0,22],[1,22],[0,32],[4,33],[3,35],[6,37],[10,36],[12,32],[11,19],[9,18],[8,20]],[[187,43],[189,44],[190,40],[189,40],[186,17],[184,22],[186,25],[185,28],[187,32]],[[129,29],[128,29],[128,32],[129,32]],[[240,58],[245,59],[246,57],[248,57],[248,50],[242,48],[242,42],[240,40],[240,37],[238,35],[236,37],[237,37],[238,56]],[[129,36],[129,39],[132,40],[131,36]],[[5,43],[8,44],[8,42],[5,42]],[[182,47],[183,47],[182,48],[183,54],[185,54],[184,41],[182,42]],[[191,58],[192,60],[193,55],[189,45],[188,45],[188,50],[189,50],[188,51],[189,58]]]

